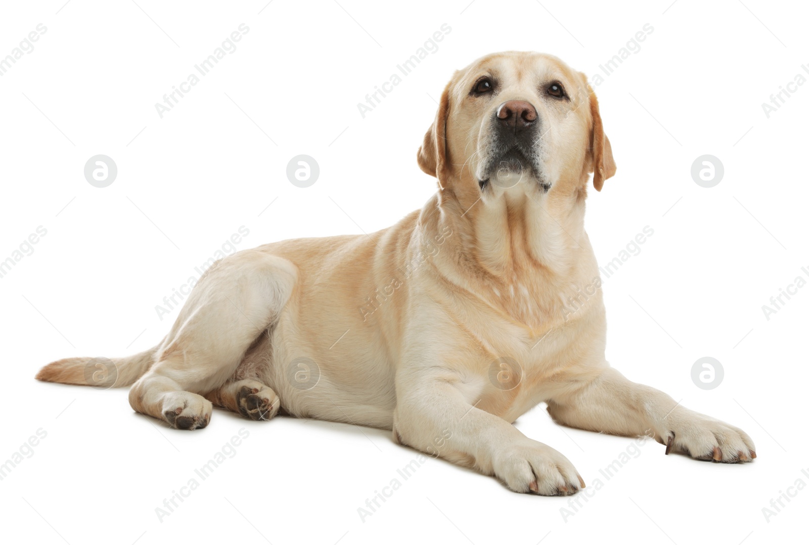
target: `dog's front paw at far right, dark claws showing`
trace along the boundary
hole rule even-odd
[[[669,421],[670,420],[670,421]],[[756,446],[747,433],[709,416],[688,412],[668,417],[668,429],[659,436],[666,454],[684,452],[698,460],[723,463],[752,462]]]

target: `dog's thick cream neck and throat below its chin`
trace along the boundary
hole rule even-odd
[[[582,253],[592,254],[586,191],[583,184],[549,192],[497,189],[477,201],[444,189],[428,202],[421,215],[426,232],[451,232],[436,270],[519,323],[541,327],[563,310],[559,294],[589,273],[576,270],[589,261]]]

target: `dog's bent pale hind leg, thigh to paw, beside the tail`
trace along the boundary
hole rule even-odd
[[[219,391],[256,338],[269,334],[296,277],[293,264],[260,250],[239,251],[212,265],[194,286],[155,365],[129,391],[132,408],[178,429],[208,425],[212,405],[201,394]],[[277,411],[277,398],[269,397],[262,392],[260,400],[267,398]],[[257,402],[248,395],[245,403]]]

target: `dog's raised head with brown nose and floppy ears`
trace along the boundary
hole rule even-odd
[[[615,174],[587,76],[541,53],[495,53],[455,72],[418,150],[421,170],[455,192],[601,190]]]

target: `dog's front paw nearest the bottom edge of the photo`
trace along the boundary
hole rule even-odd
[[[532,439],[499,450],[493,468],[494,474],[515,492],[568,496],[585,486],[570,460]]]

